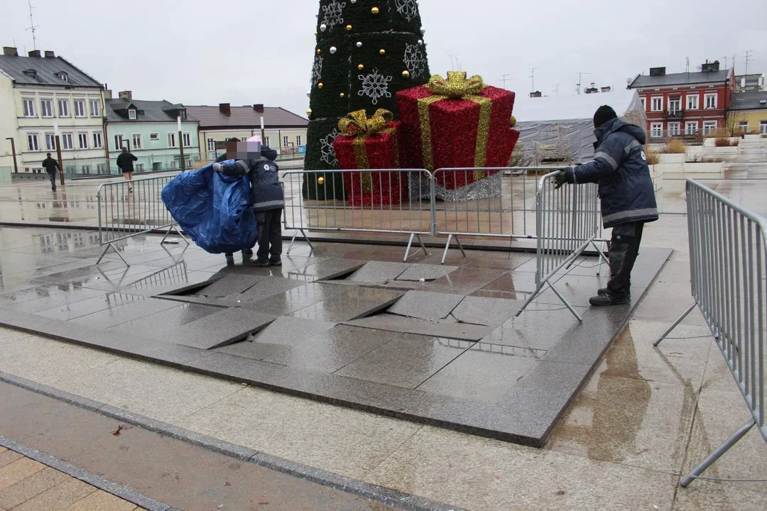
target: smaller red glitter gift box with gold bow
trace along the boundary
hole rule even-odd
[[[350,113],[338,123],[341,135],[333,142],[342,170],[400,169],[394,114],[380,109],[368,117],[365,110]],[[407,176],[401,172],[344,172],[344,186],[353,206],[400,204],[407,199]]]

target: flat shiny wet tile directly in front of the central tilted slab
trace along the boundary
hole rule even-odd
[[[313,371],[332,373],[399,336],[399,332],[338,325],[283,349],[265,360]]]

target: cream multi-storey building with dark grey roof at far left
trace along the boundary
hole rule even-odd
[[[0,168],[44,172],[47,153],[56,158],[61,142],[67,174],[107,169],[104,86],[54,52],[18,55],[4,47],[0,55]],[[12,144],[15,146],[15,160]],[[91,172],[84,172],[91,171]]]

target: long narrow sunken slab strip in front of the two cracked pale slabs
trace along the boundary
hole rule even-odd
[[[404,318],[393,314],[378,314],[377,316],[363,319],[345,321],[344,325],[463,341],[479,341],[492,332],[492,328],[489,326],[453,323],[450,321],[425,321],[423,319]]]

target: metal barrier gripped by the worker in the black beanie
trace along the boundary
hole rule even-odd
[[[551,279],[563,268],[571,267],[589,246],[594,246],[599,253],[600,266],[597,268],[597,275],[601,271],[602,261],[607,262],[607,257],[597,244],[600,234],[598,189],[594,183],[555,188],[554,178],[557,174],[558,171],[551,172],[538,182],[535,198],[538,237],[535,253],[535,293],[516,315],[522,314],[548,285],[582,323],[581,315],[551,283]]]

